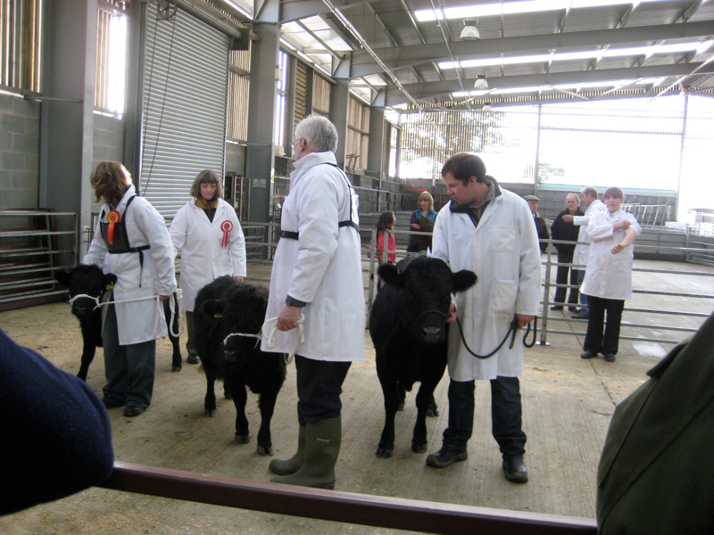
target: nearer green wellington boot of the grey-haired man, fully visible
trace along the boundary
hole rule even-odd
[[[342,441],[342,417],[305,425],[303,465],[297,472],[272,478],[273,483],[315,489],[335,488],[335,465]]]

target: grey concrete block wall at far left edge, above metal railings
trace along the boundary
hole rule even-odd
[[[0,93],[0,209],[37,209],[40,105]]]

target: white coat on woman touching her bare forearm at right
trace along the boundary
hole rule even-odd
[[[580,292],[594,295],[602,299],[628,300],[632,298],[632,259],[635,248],[630,243],[618,254],[612,253],[612,246],[622,242],[627,230],[612,226],[619,221],[630,222],[629,228],[634,228],[637,235],[642,227],[632,214],[625,210],[599,211],[587,224],[587,234],[593,243],[587,256],[585,280]]]

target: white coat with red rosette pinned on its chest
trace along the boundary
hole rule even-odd
[[[230,221],[228,247],[223,247],[222,225]],[[245,276],[245,237],[238,222],[236,210],[218,200],[213,221],[195,199],[182,206],[169,228],[171,243],[181,250],[181,276],[179,288],[183,291],[181,309],[193,312],[198,291],[214,279],[228,276]]]

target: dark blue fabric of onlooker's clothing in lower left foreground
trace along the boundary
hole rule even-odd
[[[112,426],[101,399],[2,330],[0,430],[0,514],[64,498],[112,473]]]

